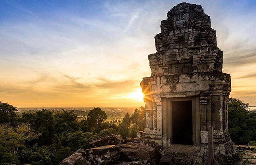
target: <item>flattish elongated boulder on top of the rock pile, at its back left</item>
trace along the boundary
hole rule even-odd
[[[122,141],[123,141],[123,138],[121,136],[116,134],[111,134],[109,136],[102,137],[100,139],[90,142],[90,146],[94,148],[94,147],[100,147],[100,146],[106,146],[106,145],[116,145],[116,144],[121,144]]]

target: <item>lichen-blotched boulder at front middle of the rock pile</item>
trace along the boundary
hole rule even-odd
[[[108,145],[85,150],[85,158],[93,165],[110,165],[120,158],[119,146]]]

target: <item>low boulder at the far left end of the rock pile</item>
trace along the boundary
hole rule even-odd
[[[91,163],[85,160],[82,153],[74,153],[68,158],[62,160],[59,165],[91,165]]]

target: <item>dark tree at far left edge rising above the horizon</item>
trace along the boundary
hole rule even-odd
[[[14,122],[17,120],[18,117],[16,112],[16,107],[0,101],[0,124],[6,123],[14,125]]]

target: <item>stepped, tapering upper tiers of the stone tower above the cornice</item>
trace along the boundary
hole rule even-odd
[[[223,53],[201,5],[174,6],[161,21],[155,44],[157,52],[149,55],[152,76],[222,71]]]

